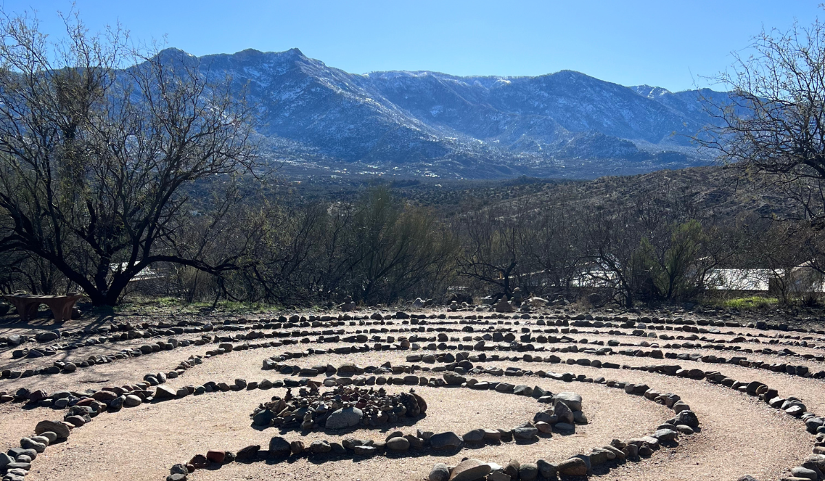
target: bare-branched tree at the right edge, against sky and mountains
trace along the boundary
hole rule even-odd
[[[800,217],[822,224],[825,25],[763,30],[750,47],[714,79],[729,94],[705,99],[714,122],[696,140],[729,167],[782,187],[799,200]]]

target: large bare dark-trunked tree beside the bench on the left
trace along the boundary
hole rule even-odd
[[[0,251],[49,262],[94,304],[115,304],[154,262],[237,268],[243,252],[207,262],[181,233],[196,182],[231,186],[252,165],[243,92],[185,54],[64,21],[67,40],[53,44],[36,20],[0,19]],[[213,232],[240,200],[226,192],[205,221]]]

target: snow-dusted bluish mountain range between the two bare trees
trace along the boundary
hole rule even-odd
[[[193,59],[176,49],[161,55]],[[347,73],[298,49],[198,59],[259,111],[266,154],[290,166],[441,177],[593,178],[709,162],[690,137],[724,93],[623,87],[563,70],[538,77]],[[318,171],[318,169],[321,169]]]

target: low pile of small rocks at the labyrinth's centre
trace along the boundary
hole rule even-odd
[[[414,389],[409,393],[387,394],[384,388],[337,386],[321,394],[319,387],[310,382],[307,388],[299,389],[297,396],[292,394],[292,389],[287,389],[283,398],[273,396],[252,413],[252,425],[301,431],[317,427],[375,427],[427,412],[427,402]]]

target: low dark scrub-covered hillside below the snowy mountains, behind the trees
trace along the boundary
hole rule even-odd
[[[593,181],[564,181],[518,177],[504,180],[450,181],[438,179],[392,180],[381,177],[324,179],[289,182],[297,204],[314,200],[356,200],[370,186],[384,185],[400,199],[436,210],[449,218],[463,210],[527,201],[538,209],[572,205],[586,209],[625,210],[663,196],[689,200],[705,219],[721,221],[741,215],[770,217],[792,215],[797,205],[788,196],[757,188],[722,167],[661,170],[634,176],[600,177]]]

